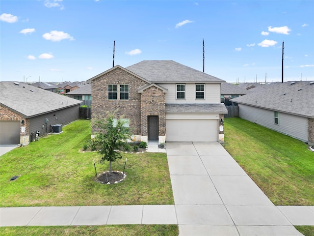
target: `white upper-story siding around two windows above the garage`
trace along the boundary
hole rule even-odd
[[[195,84],[185,84],[185,100],[176,99],[176,84],[158,84],[168,89],[165,93],[166,103],[220,103],[220,84],[205,84],[205,99],[195,98]]]

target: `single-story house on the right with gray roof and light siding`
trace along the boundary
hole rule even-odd
[[[231,101],[240,118],[314,144],[314,82],[277,82]]]

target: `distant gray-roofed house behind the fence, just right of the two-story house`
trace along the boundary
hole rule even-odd
[[[229,101],[230,99],[245,95],[248,92],[246,89],[224,82],[221,83],[220,93],[221,102],[225,103],[226,106],[232,106],[232,102]]]

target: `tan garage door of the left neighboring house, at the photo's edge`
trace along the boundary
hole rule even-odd
[[[0,144],[20,143],[20,121],[0,121]]]

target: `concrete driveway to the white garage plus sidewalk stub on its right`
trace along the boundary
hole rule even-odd
[[[302,235],[286,206],[274,206],[219,143],[167,143],[166,150],[180,236]],[[298,210],[299,222],[314,225],[313,207]]]

